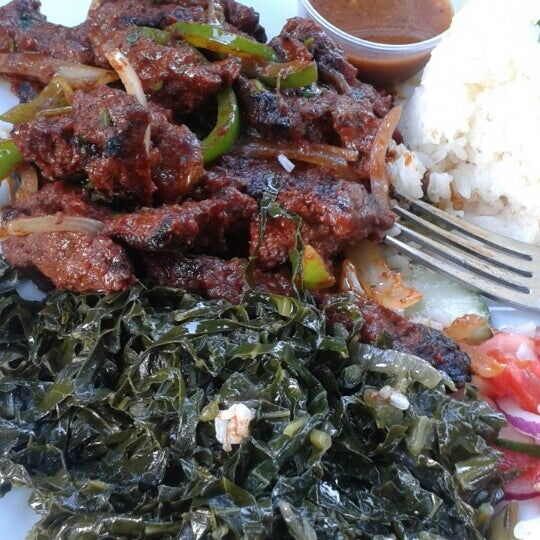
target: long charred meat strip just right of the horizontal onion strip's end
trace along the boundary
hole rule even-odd
[[[247,230],[257,203],[234,188],[218,198],[162,206],[109,222],[106,234],[140,251],[225,254],[229,237]]]

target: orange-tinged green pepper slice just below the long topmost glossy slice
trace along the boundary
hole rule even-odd
[[[242,62],[242,71],[273,88],[304,88],[317,82],[316,62],[261,63],[250,59]]]

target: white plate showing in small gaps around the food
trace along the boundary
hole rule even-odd
[[[285,21],[297,14],[297,0],[240,0],[242,3],[253,6],[261,14],[261,22],[266,28],[269,37],[278,34]],[[0,6],[8,0],[0,0]],[[91,0],[75,0],[68,3],[66,0],[42,0],[42,12],[51,22],[72,26],[82,22],[88,11]],[[70,7],[66,7],[70,4]],[[17,103],[17,99],[10,93],[9,86],[0,82],[0,110],[7,110]],[[1,127],[1,123],[0,123]],[[1,194],[0,194],[1,196]],[[540,325],[540,315],[519,312],[513,308],[491,304],[494,324],[498,328],[516,326],[533,319]],[[14,489],[3,499],[0,499],[0,539],[23,540],[32,525],[37,521],[36,514],[28,506],[27,489]],[[540,514],[540,498],[530,502],[522,509],[523,517],[533,517]],[[540,526],[540,524],[539,524]],[[536,536],[539,538],[540,529]]]

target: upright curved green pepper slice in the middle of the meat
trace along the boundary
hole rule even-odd
[[[240,136],[240,108],[232,88],[224,88],[218,94],[216,127],[202,141],[204,162],[215,161],[226,154]]]

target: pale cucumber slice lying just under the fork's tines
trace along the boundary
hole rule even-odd
[[[447,328],[464,315],[479,315],[489,329],[489,309],[477,293],[416,264],[411,264],[403,277],[407,285],[422,293],[422,300],[405,310],[407,318],[429,319]]]

